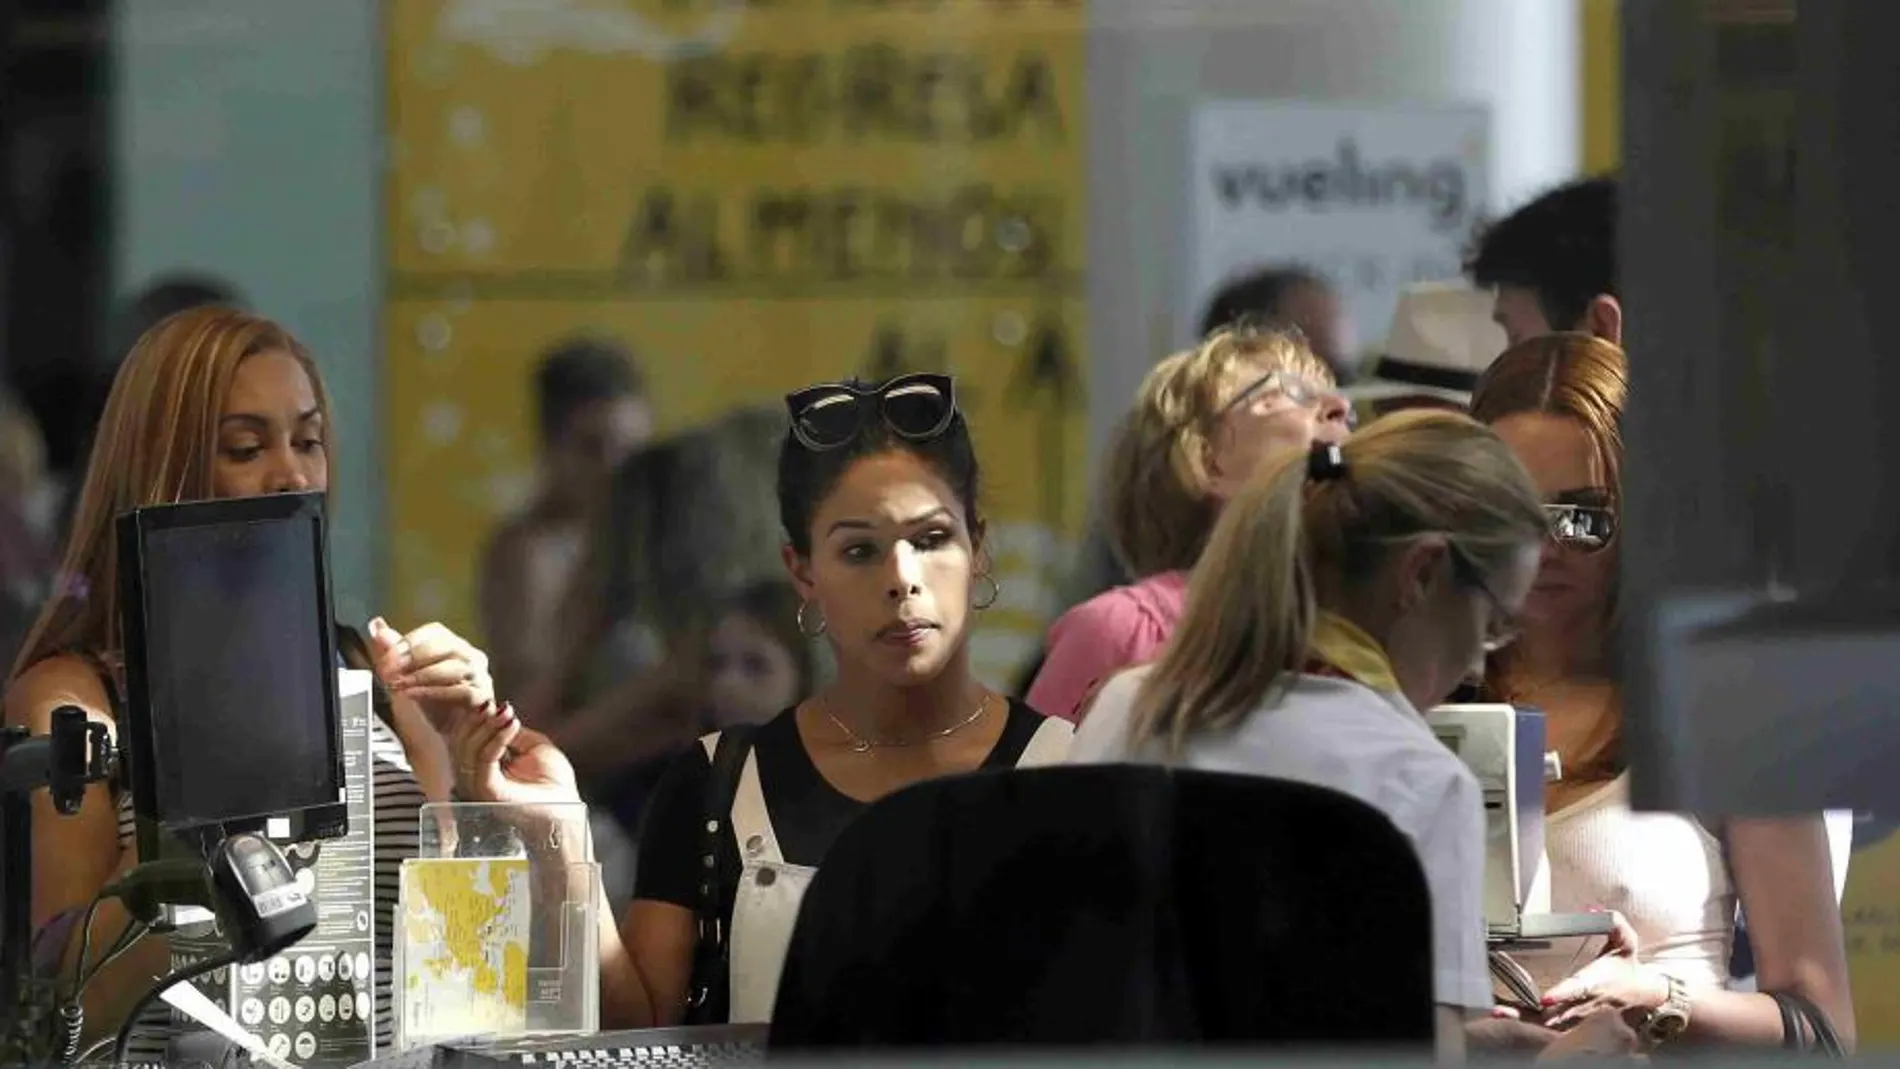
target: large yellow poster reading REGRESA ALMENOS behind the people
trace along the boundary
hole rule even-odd
[[[1003,682],[1081,526],[1081,0],[388,6],[399,619],[473,625],[534,478],[530,370],[618,334],[661,431],[808,382],[958,376]]]

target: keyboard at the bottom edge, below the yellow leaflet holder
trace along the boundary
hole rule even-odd
[[[572,1037],[458,1039],[365,1061],[361,1069],[697,1069],[766,1060],[768,1025],[694,1025]]]

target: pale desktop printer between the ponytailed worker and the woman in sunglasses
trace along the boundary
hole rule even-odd
[[[1545,742],[1545,716],[1510,704],[1444,704],[1425,716],[1433,735],[1478,777],[1484,792],[1484,923],[1493,946],[1609,934],[1606,913],[1552,913],[1545,854],[1545,782],[1562,778]]]

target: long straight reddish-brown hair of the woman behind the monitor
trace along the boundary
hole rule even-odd
[[[13,676],[57,653],[108,661],[120,655],[116,520],[131,509],[213,497],[211,458],[224,397],[238,365],[266,351],[289,353],[304,366],[317,414],[329,425],[331,401],[315,363],[268,319],[194,308],[139,336],[99,420],[59,562],[59,589],[27,632]]]

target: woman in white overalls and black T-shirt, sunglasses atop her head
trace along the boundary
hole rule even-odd
[[[703,739],[656,788],[633,904],[602,930],[600,1016],[616,1027],[770,1020],[804,889],[868,803],[1068,752],[1066,723],[969,670],[998,585],[950,378],[823,384],[787,406],[785,568],[836,678],[752,733]],[[454,735],[466,796],[576,797],[560,752],[517,722],[471,716]]]

